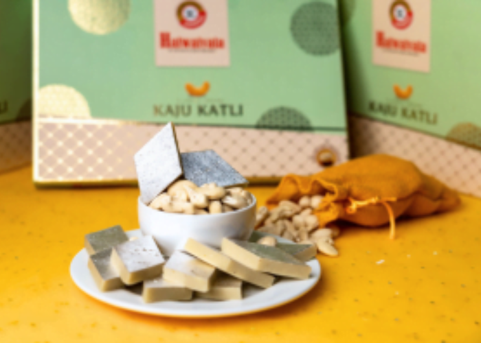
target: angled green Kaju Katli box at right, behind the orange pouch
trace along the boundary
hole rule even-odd
[[[481,196],[481,2],[340,4],[353,154],[407,158]]]

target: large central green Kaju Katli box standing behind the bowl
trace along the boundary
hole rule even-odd
[[[34,1],[34,181],[135,182],[173,121],[249,180],[347,159],[337,1]]]

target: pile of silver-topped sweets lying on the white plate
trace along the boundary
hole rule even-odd
[[[255,243],[265,238],[256,233],[249,241],[224,238],[221,250],[188,239],[183,250],[164,257],[153,237],[128,239],[120,226],[85,237],[89,269],[102,292],[142,284],[145,303],[158,301],[241,300],[243,284],[269,288],[276,276],[307,279],[311,267],[305,261],[315,249],[301,244]],[[291,253],[292,252],[292,253]],[[302,253],[301,255],[298,255]]]

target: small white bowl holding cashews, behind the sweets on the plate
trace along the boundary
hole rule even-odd
[[[186,215],[150,209],[137,200],[140,230],[152,235],[164,255],[183,248],[188,238],[214,248],[221,247],[223,237],[247,239],[256,224],[256,198],[244,209],[214,215]]]

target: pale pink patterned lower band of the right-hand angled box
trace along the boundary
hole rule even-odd
[[[481,196],[481,153],[407,128],[349,116],[353,156],[391,154],[413,161],[448,187]]]

